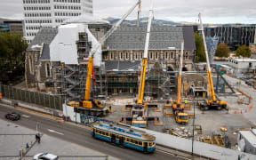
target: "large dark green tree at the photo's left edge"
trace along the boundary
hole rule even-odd
[[[0,81],[15,82],[18,77],[24,76],[27,47],[20,34],[0,34]]]

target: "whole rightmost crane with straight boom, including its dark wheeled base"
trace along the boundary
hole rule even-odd
[[[210,98],[210,100],[206,100],[204,103],[199,103],[199,106],[200,106],[200,108],[202,108],[204,110],[208,110],[209,108],[217,108],[218,110],[220,110],[222,108],[227,108],[227,102],[218,100],[215,95],[214,86],[213,86],[213,82],[212,82],[212,71],[211,71],[211,67],[210,67],[210,61],[209,61],[207,46],[206,46],[206,42],[205,42],[204,26],[203,26],[202,19],[201,19],[201,13],[199,13],[198,17],[200,20],[200,28],[198,28],[198,30],[201,30],[202,36],[203,36],[203,41],[204,41],[204,52],[205,52],[205,57],[206,57],[207,80],[208,80],[208,98]]]

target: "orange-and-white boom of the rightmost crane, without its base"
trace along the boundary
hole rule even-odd
[[[205,52],[206,65],[207,65],[207,79],[208,79],[208,85],[209,85],[208,92],[209,92],[209,95],[212,97],[212,100],[217,101],[217,98],[216,98],[215,92],[214,92],[213,82],[212,82],[212,71],[211,71],[211,67],[210,67],[208,50],[207,50],[207,46],[206,46],[206,42],[205,42],[204,26],[203,26],[202,19],[201,19],[201,13],[199,13],[198,17],[199,17],[199,21],[200,21],[199,30],[201,30],[201,32],[202,32],[203,41],[204,41],[204,52]]]

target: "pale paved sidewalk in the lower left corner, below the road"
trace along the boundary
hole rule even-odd
[[[24,148],[26,152],[26,144],[28,143],[30,147],[31,144],[36,141],[35,134],[36,131],[0,119],[0,160],[19,159],[20,149]],[[32,145],[32,148],[28,150],[25,160],[30,160],[36,154],[43,152],[60,156],[61,160],[85,159],[85,157],[92,160],[106,159],[106,155],[98,151],[44,134],[41,138],[41,143],[35,143],[35,145]],[[108,159],[114,160],[116,158],[108,156]]]

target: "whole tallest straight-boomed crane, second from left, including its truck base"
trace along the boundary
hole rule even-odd
[[[140,88],[139,88],[138,100],[137,100],[137,104],[132,106],[132,125],[141,127],[141,128],[147,127],[148,104],[144,104],[143,98],[144,98],[146,72],[148,67],[148,45],[149,45],[151,22],[153,17],[153,4],[154,4],[154,0],[151,0],[149,16],[148,16],[148,28],[147,28],[145,49],[144,49],[142,67],[140,72],[141,75],[140,75]]]

